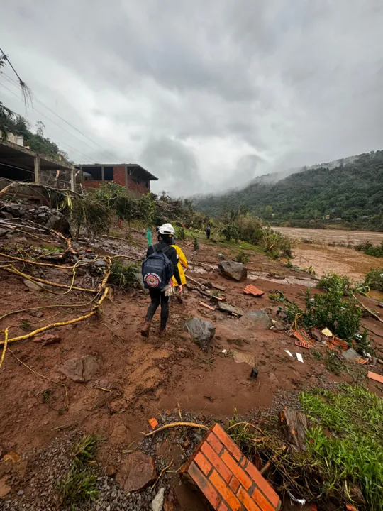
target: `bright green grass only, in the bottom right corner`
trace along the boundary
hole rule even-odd
[[[318,424],[309,432],[307,447],[325,478],[323,489],[336,488],[347,498],[356,483],[367,508],[382,510],[383,401],[361,386],[340,385],[338,392],[303,392],[301,403]]]

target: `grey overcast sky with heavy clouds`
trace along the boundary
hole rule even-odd
[[[91,141],[1,75],[0,101],[76,163],[140,163],[155,192],[383,148],[382,0],[12,0],[0,27],[35,97]]]

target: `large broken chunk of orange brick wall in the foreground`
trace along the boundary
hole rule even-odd
[[[181,473],[213,510],[276,511],[281,505],[277,493],[219,424],[209,429]]]

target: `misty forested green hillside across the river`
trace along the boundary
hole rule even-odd
[[[245,189],[195,200],[196,209],[211,216],[239,206],[276,225],[338,222],[383,230],[383,151],[332,169],[304,170],[274,184],[257,178]]]

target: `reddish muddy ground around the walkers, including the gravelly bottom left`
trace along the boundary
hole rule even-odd
[[[30,243],[34,242],[28,240],[26,244]],[[240,307],[243,312],[274,307],[275,303],[268,295],[275,289],[303,306],[307,286],[315,285],[306,273],[288,269],[282,263],[251,251],[247,264],[251,278],[241,283],[226,280],[217,271],[218,253],[231,258],[233,249],[213,243],[201,244],[200,250],[194,253],[190,243],[179,243],[180,246],[185,244],[184,252],[193,263],[189,275],[202,282],[225,287],[226,292],[222,296],[226,302]],[[92,246],[90,241],[85,245]],[[129,242],[103,238],[93,246],[103,253],[137,257],[145,252],[145,238],[140,233],[132,233]],[[281,276],[285,278],[279,278]],[[48,304],[78,306],[91,300],[91,296],[81,292],[70,292],[65,296],[35,292],[26,287],[18,276],[4,272],[0,278],[0,315]],[[43,278],[56,281],[61,278],[64,282],[69,277],[60,274],[57,278],[57,272],[52,270],[51,273],[50,270],[43,273]],[[81,280],[84,278],[79,277],[77,285],[86,284]],[[249,283],[264,290],[265,295],[261,298],[244,295],[243,289]],[[133,501],[124,500],[127,498],[114,475],[118,474],[129,452],[143,449],[140,443],[142,432],[150,431],[148,419],[151,417],[168,422],[167,416],[181,415],[194,417],[197,422],[215,419],[227,424],[235,411],[245,416],[254,410],[267,410],[276,397],[282,406],[284,401],[280,396],[289,392],[296,394],[308,386],[353,380],[350,375],[336,376],[318,362],[311,351],[296,348],[287,331],[249,329],[237,317],[202,307],[199,302],[209,302],[197,292],[185,289],[183,300],[183,304],[172,300],[169,327],[163,336],[159,333],[158,314],[149,339],[140,336],[148,297],[135,289],[126,293],[113,292],[104,302],[98,317],[50,331],[60,336],[60,342],[56,344],[43,346],[30,339],[9,347],[0,370],[0,458],[9,451],[15,451],[21,456],[21,461],[8,473],[4,473],[0,464],[0,481],[7,478],[7,485],[11,488],[5,500],[0,500],[0,509],[56,509],[57,488],[53,483],[46,490],[46,495],[39,496],[38,505],[36,488],[45,485],[48,473],[54,474],[55,480],[62,477],[67,469],[65,449],[70,435],[79,432],[97,434],[104,439],[98,456],[99,485],[105,483],[108,489],[101,491],[104,500],[100,497],[99,502],[86,509],[148,509],[149,501],[134,501],[135,507],[123,507],[123,502],[128,506]],[[367,307],[377,307],[377,302],[372,299],[362,300]],[[25,329],[26,322],[35,329],[39,325],[77,317],[86,309],[89,307],[43,309],[43,317],[40,318],[23,312],[2,319],[0,327],[12,326],[12,336],[22,335],[25,331],[21,326]],[[207,353],[201,351],[184,330],[185,320],[192,316],[209,319],[216,326],[216,336]],[[383,324],[371,318],[363,318],[362,323],[375,332],[371,337],[382,352]],[[235,363],[233,356],[223,353],[233,349],[255,357],[259,370],[257,380],[249,379],[251,367],[247,363]],[[304,363],[287,356],[286,349],[302,353]],[[323,347],[318,350],[323,350]],[[59,368],[64,361],[86,355],[94,356],[99,363],[99,372],[94,380],[75,383],[60,373]],[[358,367],[357,370],[366,368]],[[44,380],[41,375],[57,384]],[[65,410],[65,388],[62,384],[67,390],[68,410]],[[368,385],[381,394],[379,384]],[[163,463],[169,461],[167,458],[172,458],[174,471],[186,461],[194,445],[191,441],[189,451],[185,446],[173,445],[171,435],[150,440],[149,444],[148,440],[145,442],[145,449],[155,456],[159,466],[163,467]],[[59,454],[62,461],[57,471],[53,467],[57,468]],[[41,475],[38,477],[39,456],[45,460],[44,482]],[[169,478],[167,484],[167,488],[169,485],[174,487],[179,502],[176,509],[204,509],[198,497],[179,483],[178,476]]]

